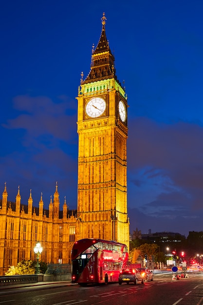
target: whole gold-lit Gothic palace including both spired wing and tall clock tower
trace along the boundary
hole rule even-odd
[[[35,260],[34,247],[43,248],[46,263],[71,263],[74,242],[101,238],[129,247],[127,213],[128,104],[117,79],[114,56],[106,38],[106,17],[97,46],[92,47],[91,69],[81,73],[78,87],[78,194],[77,210],[66,199],[60,210],[58,184],[49,209],[43,198],[34,207],[32,191],[27,203],[7,201],[6,183],[0,200],[0,275],[21,260]]]

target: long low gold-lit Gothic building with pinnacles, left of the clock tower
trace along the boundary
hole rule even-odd
[[[40,241],[43,251],[40,260],[45,263],[71,264],[71,250],[79,237],[76,210],[68,210],[66,200],[59,211],[57,185],[49,210],[33,207],[32,195],[28,205],[21,204],[19,194],[15,203],[7,202],[6,185],[0,201],[0,275],[22,260],[35,260],[34,248]]]

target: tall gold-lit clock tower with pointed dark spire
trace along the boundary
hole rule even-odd
[[[129,246],[127,211],[128,104],[115,73],[106,17],[91,70],[78,89],[79,239],[101,238]]]

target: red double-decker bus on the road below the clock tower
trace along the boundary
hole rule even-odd
[[[128,265],[126,245],[102,239],[81,239],[71,253],[72,283],[79,285],[118,282],[120,270]]]

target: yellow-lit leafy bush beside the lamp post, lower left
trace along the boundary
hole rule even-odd
[[[35,274],[36,262],[32,260],[24,260],[17,264],[17,266],[11,266],[5,275],[24,275]]]

